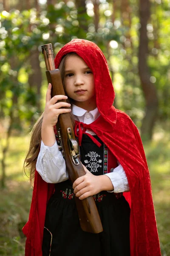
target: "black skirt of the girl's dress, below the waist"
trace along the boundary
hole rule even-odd
[[[43,256],[130,256],[130,207],[122,193],[94,195],[103,232],[93,234],[80,227],[71,181],[55,188],[46,210]]]

